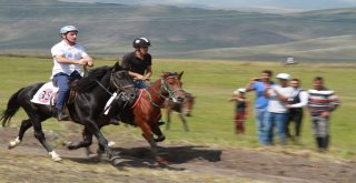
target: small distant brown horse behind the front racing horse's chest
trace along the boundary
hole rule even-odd
[[[167,115],[167,123],[166,123],[166,130],[169,130],[170,128],[170,121],[171,121],[171,113],[177,112],[180,121],[184,124],[184,129],[186,132],[189,131],[189,126],[187,123],[186,116],[191,116],[191,110],[195,104],[195,96],[191,93],[185,92],[185,100],[182,103],[176,103],[170,100],[166,101],[165,109],[166,115]]]

